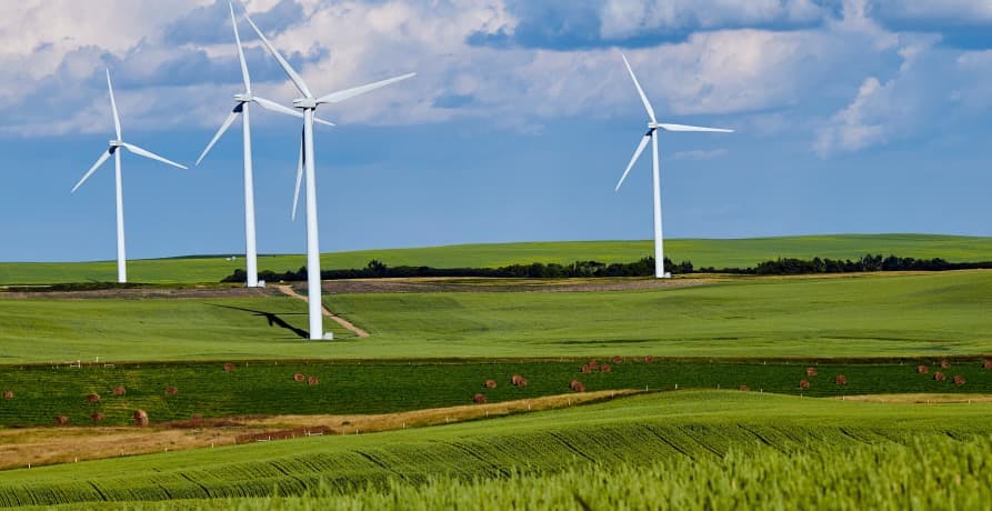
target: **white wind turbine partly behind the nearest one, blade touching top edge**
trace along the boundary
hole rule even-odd
[[[258,272],[258,246],[255,243],[255,229],[254,229],[254,179],[252,178],[252,166],[251,166],[251,118],[249,116],[248,103],[255,102],[259,103],[262,108],[267,110],[272,110],[277,112],[288,113],[290,116],[295,116],[299,118],[303,118],[303,114],[297,110],[293,110],[289,107],[283,107],[274,101],[268,100],[265,98],[259,98],[258,96],[253,96],[251,93],[251,77],[248,73],[248,62],[244,60],[244,51],[241,49],[241,36],[238,33],[238,20],[234,18],[234,4],[230,3],[231,8],[231,23],[234,27],[234,43],[238,46],[238,58],[241,61],[241,77],[244,81],[244,92],[240,94],[234,94],[234,108],[231,113],[228,116],[227,120],[224,120],[223,124],[221,124],[220,129],[217,130],[217,134],[213,136],[213,139],[207,144],[207,149],[203,150],[203,153],[200,154],[200,158],[197,160],[197,166],[203,161],[203,158],[207,157],[207,153],[210,152],[210,149],[213,148],[213,144],[220,140],[221,137],[228,131],[231,124],[238,119],[238,114],[242,114],[241,119],[241,128],[243,134],[243,151],[244,151],[244,264],[247,272],[247,281],[246,285],[249,288],[257,288],[259,285],[259,272]],[[322,121],[320,119],[318,122],[322,122],[324,124],[333,126],[330,122]]]

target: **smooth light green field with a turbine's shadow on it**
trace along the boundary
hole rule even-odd
[[[992,353],[992,271],[743,279],[635,292],[341,294],[328,304],[372,337],[337,331],[342,342],[303,342],[251,312],[304,327],[303,303],[281,297],[0,300],[0,363]]]

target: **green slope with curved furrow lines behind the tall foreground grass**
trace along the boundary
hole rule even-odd
[[[986,437],[990,421],[992,404],[886,405],[680,391],[422,430],[6,471],[0,473],[0,504],[264,497],[273,491],[285,495],[305,492],[321,481],[352,492],[395,479],[411,484],[438,477],[469,481],[513,472],[547,474],[593,463],[644,467],[682,457],[719,462],[731,450],[764,458],[769,447],[796,453],[810,445],[830,445],[843,453],[864,443],[912,444],[920,434]],[[966,467],[975,467],[974,462],[986,463],[988,457],[966,454],[952,462],[962,467],[969,460],[974,461]],[[925,473],[931,478],[925,484],[941,483],[932,472]],[[754,491],[759,490],[766,491]]]

